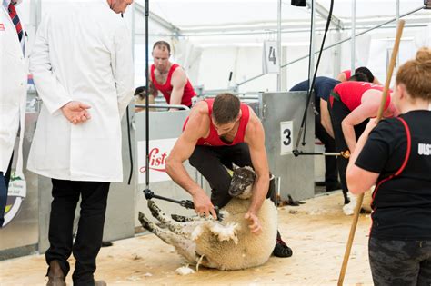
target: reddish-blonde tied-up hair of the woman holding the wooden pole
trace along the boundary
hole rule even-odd
[[[405,84],[412,98],[431,100],[431,49],[420,48],[416,58],[399,67],[396,84]]]

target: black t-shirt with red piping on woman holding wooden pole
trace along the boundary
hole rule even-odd
[[[371,235],[386,240],[431,240],[431,112],[412,111],[400,117],[411,134],[402,173],[385,181],[406,159],[406,128],[396,118],[378,123],[356,160],[358,167],[380,173]]]

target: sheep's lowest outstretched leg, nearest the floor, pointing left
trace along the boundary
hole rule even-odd
[[[151,222],[145,217],[145,214],[139,212],[138,215],[139,222],[141,222],[142,226],[148,230],[149,232],[153,232],[156,236],[158,236],[162,241],[166,242],[169,245],[173,245],[181,255],[183,255],[188,261],[196,262],[199,257],[196,256],[195,242],[192,240],[187,240],[181,235],[175,234],[173,232],[165,231],[155,225],[154,222]]]

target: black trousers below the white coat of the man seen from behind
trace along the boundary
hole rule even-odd
[[[95,258],[104,232],[109,182],[80,182],[52,179],[53,202],[49,222],[50,247],[46,262],[58,261],[67,275],[67,259],[73,253],[76,263],[72,276],[75,286],[94,285]],[[73,228],[76,204],[81,196],[81,216],[75,243]],[[49,270],[48,270],[49,271]]]

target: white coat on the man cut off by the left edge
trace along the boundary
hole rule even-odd
[[[15,25],[0,0],[0,172],[9,165],[18,129],[19,148],[15,173],[23,177],[23,138],[27,94],[28,57],[18,41]],[[24,46],[26,36],[23,29]]]

